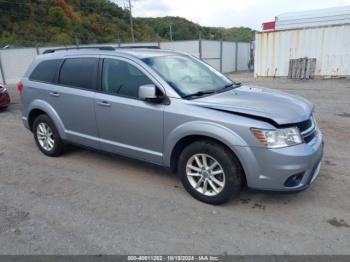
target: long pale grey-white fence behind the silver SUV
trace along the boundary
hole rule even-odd
[[[226,42],[210,40],[191,40],[174,42],[119,43],[100,46],[158,46],[192,54],[223,73],[248,71],[251,44],[246,42]],[[82,45],[88,46],[88,45]],[[98,45],[94,45],[98,46]],[[74,47],[74,46],[67,46]],[[64,48],[64,46],[0,49],[0,83],[17,83],[32,60],[47,49]]]

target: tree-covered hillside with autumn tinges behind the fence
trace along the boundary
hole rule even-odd
[[[250,41],[250,28],[202,27],[181,17],[135,18],[135,41]],[[129,42],[129,12],[108,0],[0,0],[0,46]]]

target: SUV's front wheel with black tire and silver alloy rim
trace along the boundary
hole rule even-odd
[[[204,159],[207,163],[201,168],[198,161],[203,164]],[[216,166],[215,161],[218,164]],[[188,167],[189,164],[191,167]],[[208,169],[210,166],[214,168]],[[191,175],[188,175],[189,171]],[[211,140],[200,140],[187,146],[179,157],[178,173],[187,192],[199,201],[214,205],[225,203],[237,195],[243,183],[243,170],[237,157],[223,145]],[[196,189],[198,183],[200,185]]]

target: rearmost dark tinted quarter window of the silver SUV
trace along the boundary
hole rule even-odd
[[[55,81],[55,75],[59,65],[61,64],[61,61],[62,60],[60,59],[55,59],[41,62],[33,70],[29,79],[32,81],[53,83]]]

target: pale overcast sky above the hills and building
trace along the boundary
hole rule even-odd
[[[131,0],[134,16],[181,16],[204,26],[247,26],[286,12],[350,5],[350,0]],[[127,0],[114,0],[124,6]]]

